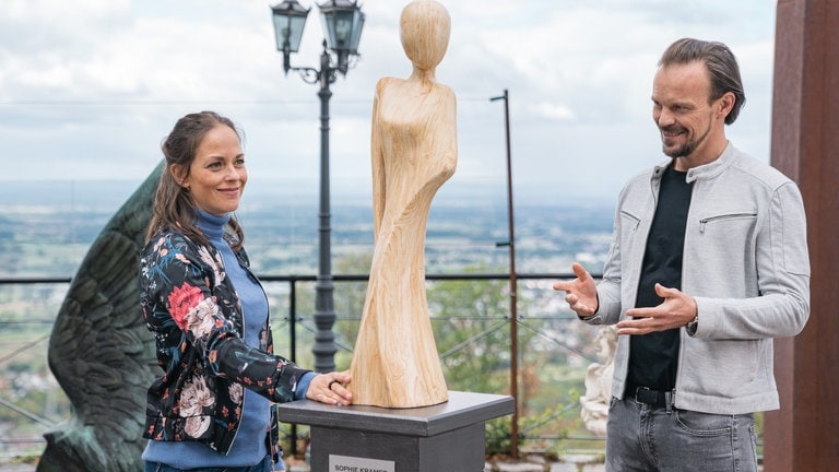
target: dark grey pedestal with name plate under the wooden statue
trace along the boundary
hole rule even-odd
[[[312,472],[480,472],[484,423],[513,412],[512,397],[449,392],[415,409],[280,405],[280,420],[311,427]]]

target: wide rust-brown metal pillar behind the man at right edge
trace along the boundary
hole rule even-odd
[[[839,2],[778,0],[771,163],[801,188],[812,264],[811,316],[776,340],[781,409],[766,413],[764,470],[839,463]]]

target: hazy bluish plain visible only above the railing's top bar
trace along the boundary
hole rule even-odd
[[[87,247],[140,182],[8,181],[0,185],[0,276],[72,276]],[[299,181],[250,186],[237,216],[258,272],[315,273],[317,188]],[[525,192],[522,192],[525,193]],[[613,206],[603,202],[515,202],[518,272],[565,272],[580,259],[599,272],[608,244]],[[428,273],[472,264],[507,271],[507,196],[504,187],[444,186],[428,217]],[[332,249],[373,251],[373,215],[366,187],[332,190]],[[268,259],[259,255],[270,252]],[[279,253],[277,253],[279,252]]]

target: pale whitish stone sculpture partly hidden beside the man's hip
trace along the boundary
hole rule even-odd
[[[598,344],[598,358],[586,371],[586,394],[580,397],[582,423],[590,432],[606,437],[608,401],[612,397],[612,374],[615,371],[615,349],[617,331],[614,326],[600,328],[594,338]]]

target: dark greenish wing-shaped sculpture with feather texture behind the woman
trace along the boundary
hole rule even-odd
[[[38,472],[143,469],[145,392],[158,367],[140,314],[138,253],[161,169],[105,225],[59,309],[48,359],[73,417],[45,435]]]

